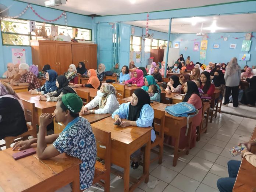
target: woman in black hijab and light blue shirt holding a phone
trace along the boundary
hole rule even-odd
[[[143,89],[135,89],[132,93],[132,101],[121,104],[120,108],[112,114],[112,118],[114,118],[115,123],[121,123],[121,127],[153,127],[154,110],[150,106],[149,94]],[[153,142],[155,139],[156,134],[152,129],[151,141]],[[134,169],[139,167],[140,154],[140,149],[132,154],[134,157],[132,168]]]

